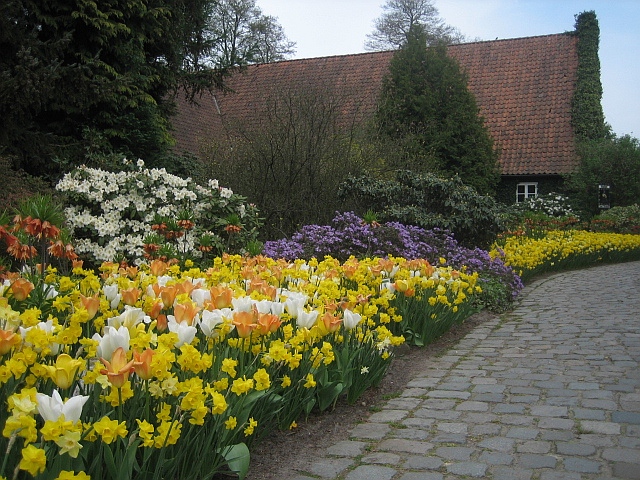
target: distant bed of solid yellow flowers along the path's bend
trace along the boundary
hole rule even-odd
[[[492,256],[504,258],[523,280],[547,271],[640,259],[640,236],[551,230],[542,238],[510,236],[494,246]]]

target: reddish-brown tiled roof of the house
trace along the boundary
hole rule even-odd
[[[562,174],[576,165],[571,127],[576,38],[568,34],[451,45],[500,149],[503,175]],[[340,99],[343,125],[370,117],[394,52],[253,65],[233,75],[232,93],[178,102],[177,148],[198,153],[230,126],[260,124],[269,99],[295,88],[326,89]],[[226,127],[226,130],[225,130]]]

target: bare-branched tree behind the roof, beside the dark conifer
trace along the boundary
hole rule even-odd
[[[255,0],[211,2],[206,34],[209,61],[218,68],[284,60],[295,53],[277,18],[264,15]]]

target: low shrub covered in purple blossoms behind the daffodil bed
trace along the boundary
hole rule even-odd
[[[486,250],[461,246],[446,230],[425,230],[398,222],[370,224],[353,212],[336,213],[331,225],[306,225],[289,239],[265,242],[263,253],[287,260],[330,255],[342,261],[352,255],[392,255],[424,258],[434,265],[445,258],[446,265],[455,269],[478,272],[481,282],[499,281],[511,291],[512,298],[523,288],[520,277],[501,258],[492,259]]]

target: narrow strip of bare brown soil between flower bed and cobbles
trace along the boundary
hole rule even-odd
[[[366,391],[355,405],[339,401],[334,410],[312,414],[306,422],[298,422],[294,430],[275,431],[253,445],[246,479],[282,480],[308,470],[315,459],[324,455],[327,447],[347,440],[349,431],[364,421],[376,405],[401,393],[407,383],[428,368],[430,359],[445,353],[470,330],[494,316],[491,312],[480,311],[427,347],[396,349],[380,385]]]

